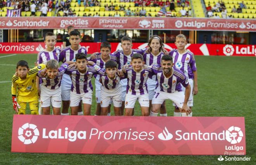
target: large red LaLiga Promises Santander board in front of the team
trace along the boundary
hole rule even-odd
[[[246,134],[244,117],[14,115],[11,151],[246,155]]]

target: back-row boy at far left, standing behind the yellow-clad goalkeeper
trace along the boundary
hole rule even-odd
[[[41,52],[38,53],[37,56],[37,62],[35,65],[38,64],[46,64],[47,61],[49,60],[57,60],[59,62],[59,55],[61,53],[60,48],[55,48],[56,44],[56,36],[52,32],[48,32],[45,34],[45,41],[46,49],[42,50]],[[41,109],[41,101],[40,101],[40,93],[41,93],[41,83],[42,80],[39,77],[36,77],[36,86],[37,86],[37,91],[38,91],[38,96],[39,96],[39,114],[42,114],[42,109]]]

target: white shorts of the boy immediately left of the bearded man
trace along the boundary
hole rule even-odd
[[[149,94],[131,95],[129,91],[125,96],[125,108],[134,108],[136,100],[139,101],[140,107],[149,107]]]

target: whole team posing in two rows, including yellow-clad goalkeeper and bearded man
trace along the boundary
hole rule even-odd
[[[29,69],[26,61],[17,63],[12,77],[17,113],[25,114],[29,103],[31,114],[49,115],[52,106],[54,115],[69,115],[69,107],[71,115],[91,115],[91,80],[95,77],[95,115],[110,115],[111,105],[117,116],[134,115],[138,100],[142,116],[157,116],[159,111],[160,116],[167,116],[166,109],[171,108],[165,100],[172,100],[174,116],[192,116],[193,95],[198,92],[197,68],[193,53],[185,49],[183,34],[176,36],[177,49],[170,52],[156,35],[144,49],[131,49],[131,38],[124,36],[123,50],[114,53],[109,42],[102,42],[100,52],[90,57],[80,46],[78,31],[69,33],[69,42],[71,45],[62,50],[55,48],[55,35],[47,33],[47,48],[38,53],[36,66]]]

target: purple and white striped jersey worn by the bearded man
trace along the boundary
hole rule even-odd
[[[150,66],[153,74],[157,76],[157,82],[159,84],[156,90],[167,92],[167,93],[174,93],[175,91],[182,91],[182,84],[184,87],[188,86],[189,79],[188,77],[182,73],[182,71],[176,69],[175,67],[172,68],[172,73],[170,77],[166,77],[164,75],[163,69],[161,65],[153,65]]]

